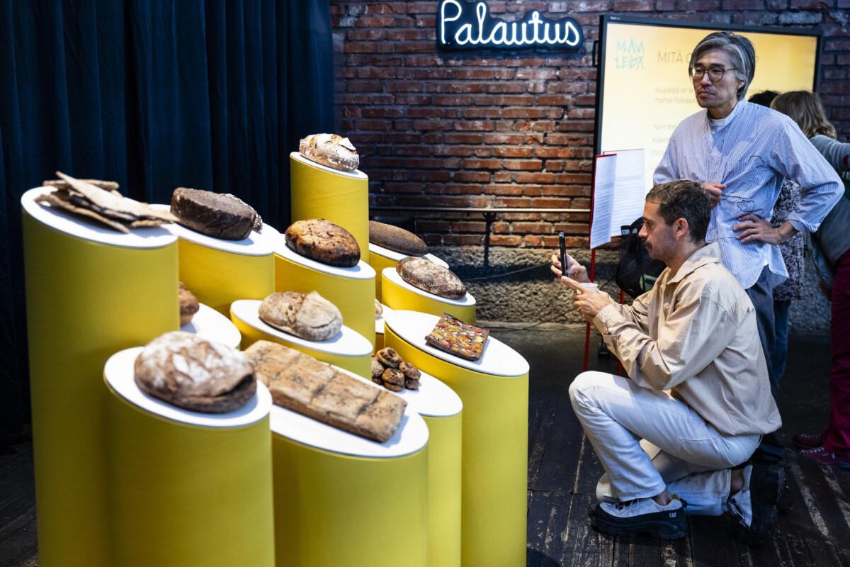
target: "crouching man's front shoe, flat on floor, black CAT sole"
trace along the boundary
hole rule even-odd
[[[629,502],[600,502],[590,509],[590,523],[595,530],[610,536],[633,537],[639,534],[676,540],[688,532],[684,502],[674,496],[661,506],[652,498]]]

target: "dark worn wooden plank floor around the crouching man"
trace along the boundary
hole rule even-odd
[[[850,566],[850,471],[798,460],[788,451],[794,507],[779,518],[759,548],[731,536],[723,518],[691,517],[680,541],[632,541],[600,536],[587,508],[602,474],[575,420],[567,388],[581,371],[583,327],[569,330],[495,330],[530,361],[528,565],[633,567],[741,565]],[[616,371],[615,360],[591,367]],[[816,431],[829,409],[829,345],[825,337],[792,337],[779,405],[783,439]],[[0,446],[0,567],[38,564],[31,443]],[[475,566],[478,567],[478,566]]]

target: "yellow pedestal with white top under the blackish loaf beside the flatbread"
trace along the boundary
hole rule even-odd
[[[229,317],[236,299],[263,299],[275,291],[275,245],[280,234],[266,225],[241,241],[201,235],[179,224],[180,281],[218,313]]]

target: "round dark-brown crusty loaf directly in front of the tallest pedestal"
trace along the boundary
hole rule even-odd
[[[322,264],[351,268],[360,262],[360,246],[348,230],[320,218],[299,220],[286,229],[286,246]]]

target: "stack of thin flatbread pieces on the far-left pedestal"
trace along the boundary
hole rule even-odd
[[[74,179],[56,172],[59,179],[45,181],[55,190],[36,197],[36,202],[92,218],[112,230],[128,233],[141,226],[159,226],[177,220],[172,213],[157,211],[147,203],[127,199],[114,181]]]

